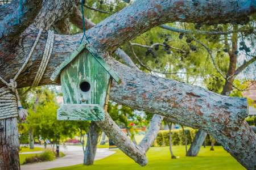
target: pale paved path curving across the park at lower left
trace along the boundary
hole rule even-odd
[[[43,147],[40,145],[35,145],[35,147]],[[63,152],[66,156],[63,158],[55,159],[51,162],[36,163],[30,165],[22,165],[20,168],[22,170],[43,170],[51,168],[61,168],[68,167],[72,165],[82,164],[84,160],[84,153],[82,152],[82,146],[67,146],[68,150],[64,150],[60,146],[60,152]],[[97,148],[96,156],[94,160],[99,160],[106,158],[114,154],[115,151],[110,151],[108,148]]]

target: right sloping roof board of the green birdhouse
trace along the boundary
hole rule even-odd
[[[86,45],[86,49],[89,50],[89,52],[93,55],[93,57],[98,61],[98,63],[100,63],[100,65],[102,67],[104,67],[104,69],[106,71],[108,71],[108,73],[113,77],[113,79],[120,84],[122,81],[119,78],[119,76],[117,75],[117,73],[115,73],[115,71],[112,69],[112,67],[110,67],[108,65],[108,63],[106,63],[104,61],[104,59],[96,52],[96,50],[94,50],[94,48],[92,46],[90,46],[90,44]]]

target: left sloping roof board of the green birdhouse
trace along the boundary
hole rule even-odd
[[[65,67],[73,61],[73,59],[76,58],[76,56],[78,54],[80,54],[82,52],[82,50],[85,48],[86,42],[82,42],[81,45],[79,45],[79,47],[67,58],[65,59],[59,66],[56,67],[55,71],[53,72],[52,76],[51,76],[51,80],[53,82],[56,82],[57,78],[59,77],[61,71],[63,69],[65,69]]]

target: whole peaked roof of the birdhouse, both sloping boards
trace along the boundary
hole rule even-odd
[[[63,69],[65,69],[65,67],[68,66],[68,64],[70,62],[73,61],[73,59],[75,59],[84,49],[87,49],[89,51],[90,54],[92,54],[92,56],[96,59],[96,61],[98,63],[100,63],[100,65],[102,67],[104,67],[104,69],[106,70],[106,72],[108,72],[110,74],[110,76],[112,76],[112,78],[118,83],[121,83],[121,79],[119,78],[119,76],[117,75],[117,73],[115,73],[115,71],[112,69],[112,67],[110,67],[108,65],[108,63],[106,63],[104,61],[103,58],[101,58],[101,56],[96,52],[96,50],[90,46],[90,44],[86,43],[85,41],[82,42],[81,45],[79,45],[79,47],[67,58],[65,59],[60,66],[57,66],[56,70],[53,72],[52,76],[51,76],[51,80],[53,82],[57,82],[57,79],[59,78],[59,75],[61,73],[61,71]]]

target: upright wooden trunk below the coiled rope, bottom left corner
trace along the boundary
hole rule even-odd
[[[20,169],[17,118],[0,120],[0,169]]]

